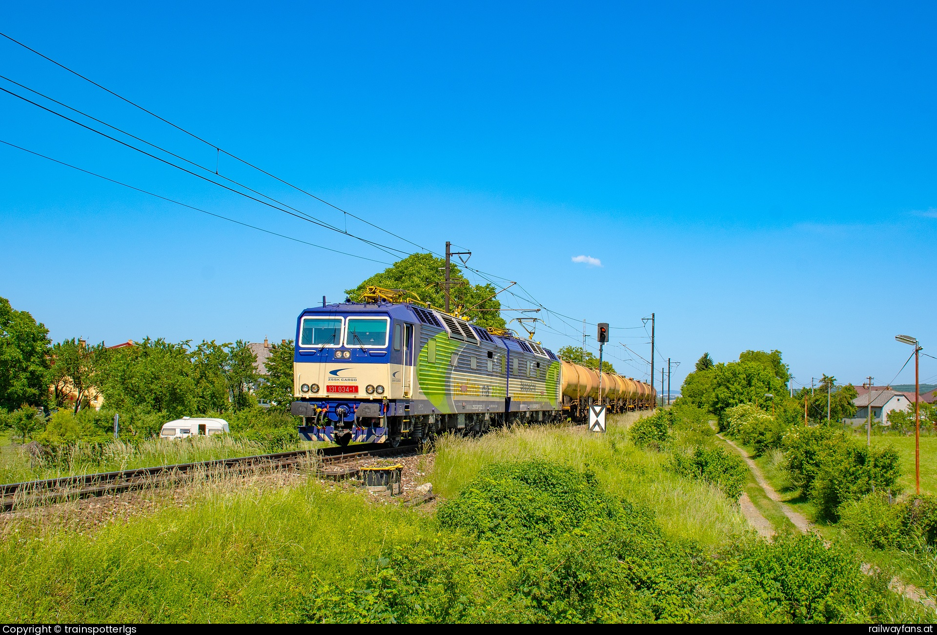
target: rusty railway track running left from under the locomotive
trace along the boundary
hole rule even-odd
[[[293,450],[240,456],[231,459],[201,461],[177,465],[158,465],[118,472],[100,472],[82,476],[61,477],[48,480],[27,480],[20,483],[0,485],[0,511],[8,511],[17,505],[50,504],[61,500],[88,498],[106,494],[119,494],[130,490],[152,487],[156,484],[178,480],[180,477],[200,471],[216,474],[222,471],[249,472],[257,469],[290,469],[310,458],[325,465],[341,464],[369,456],[406,456],[417,452],[416,445],[401,445],[391,448],[382,443],[363,443],[346,448],[323,450]]]

